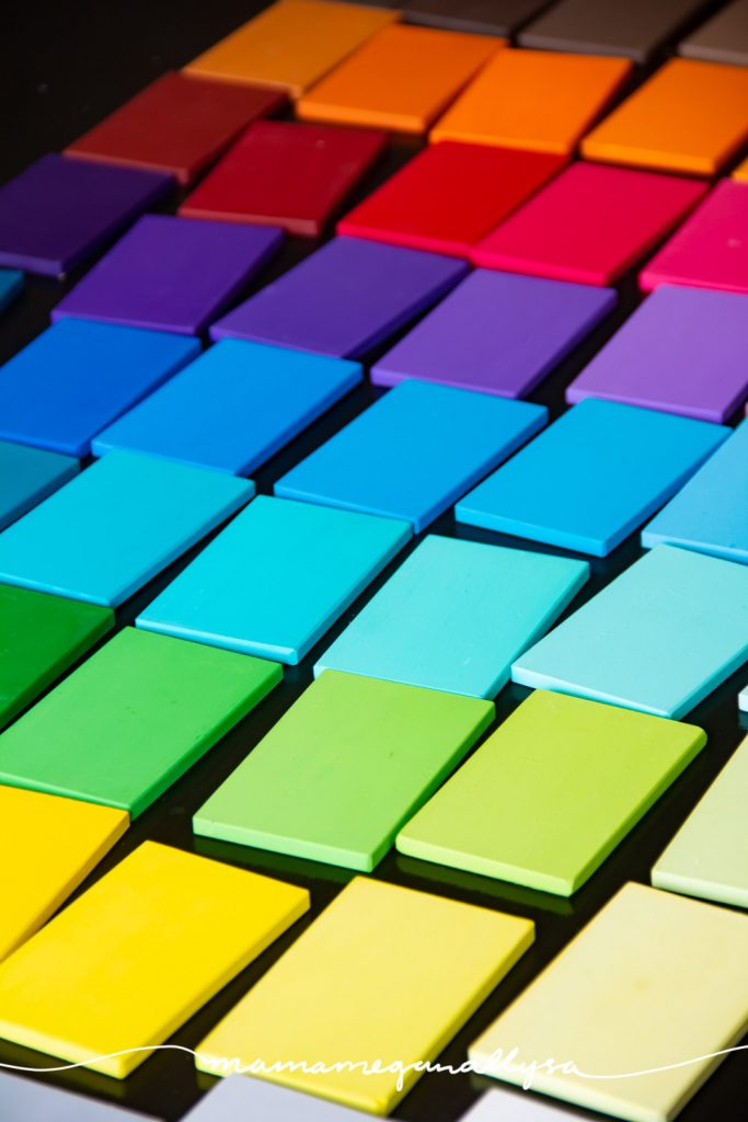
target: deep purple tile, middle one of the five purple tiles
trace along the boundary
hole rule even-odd
[[[434,304],[468,272],[440,254],[334,238],[211,328],[333,358],[359,358]]]

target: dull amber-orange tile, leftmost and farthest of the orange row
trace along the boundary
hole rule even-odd
[[[185,67],[194,77],[255,82],[298,98],[398,12],[329,0],[281,0]]]

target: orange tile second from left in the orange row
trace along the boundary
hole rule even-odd
[[[425,132],[504,40],[388,27],[315,85],[296,107],[312,121]]]

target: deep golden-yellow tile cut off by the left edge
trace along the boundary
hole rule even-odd
[[[67,900],[130,825],[123,810],[0,787],[0,959]],[[3,1122],[6,1102],[0,1082]]]

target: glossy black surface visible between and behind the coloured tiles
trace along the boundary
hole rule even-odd
[[[0,180],[4,182],[44,151],[63,148],[147,82],[167,68],[188,62],[260,7],[262,6],[248,3],[246,0],[181,0],[178,4],[167,3],[165,0],[77,0],[75,3],[12,4],[3,13],[6,34],[1,81],[6,85],[2,94],[6,128],[0,150]],[[709,6],[709,10],[717,7]],[[400,165],[415,147],[410,142],[395,144],[387,160],[369,176],[364,192],[370,191],[377,182]],[[301,239],[289,241],[277,270],[287,268],[312,246],[313,243],[302,242]],[[267,278],[266,275],[265,279]],[[636,305],[638,297],[631,278],[627,278],[619,287],[622,297],[619,311],[533,395],[532,399],[547,404],[554,416],[564,407],[564,387]],[[47,325],[49,310],[64,291],[65,286],[54,280],[28,278],[25,296],[0,320],[0,361]],[[371,396],[370,388],[357,389],[289,449],[256,473],[259,491],[268,494],[275,479],[364,408]],[[733,419],[736,420],[737,417]],[[520,548],[527,544],[527,548],[543,550],[543,546],[489,532],[463,526],[455,528],[451,514],[444,515],[430,530]],[[546,552],[563,553],[553,549]],[[118,613],[119,623],[131,623],[138,610],[184,568],[191,555],[175,563],[129,601]],[[637,535],[634,535],[609,559],[593,559],[592,580],[574,601],[574,607],[639,555]],[[345,613],[340,624],[301,666],[286,668],[283,687],[136,821],[86,882],[90,884],[144,839],[153,838],[269,873],[311,890],[310,914],[192,1018],[172,1038],[172,1043],[194,1048],[352,875],[333,866],[315,865],[225,843],[195,839],[190,828],[190,818],[310,683],[312,666],[321,651],[355,615],[361,604],[380,587],[396,564],[397,562],[390,565],[366,596]],[[507,595],[511,595],[510,589]],[[458,1034],[442,1055],[443,1063],[462,1063],[465,1049],[475,1036],[621,884],[628,880],[648,882],[653,862],[732,753],[741,735],[745,735],[738,718],[737,693],[747,678],[748,672],[744,670],[689,716],[689,720],[707,729],[708,747],[571,900],[462,874],[395,854],[390,854],[379,865],[375,875],[381,880],[525,916],[535,920],[537,926],[537,941],[533,949]],[[497,702],[499,719],[506,717],[527,693],[527,690],[519,687],[507,687]],[[12,855],[3,854],[2,859],[12,859]],[[455,947],[455,955],[459,954],[460,948]],[[699,963],[694,963],[694,969],[699,969]],[[445,963],[444,969],[449,968],[450,964]],[[438,985],[437,977],[434,978],[434,985]],[[102,995],[102,1000],[107,1000],[105,995]],[[148,1000],[147,994],[144,1000]],[[739,1052],[728,1058],[682,1113],[682,1122],[731,1122],[746,1116],[746,1052]],[[45,1065],[56,1066],[59,1061],[28,1049],[0,1043],[0,1063],[38,1068]],[[213,1082],[210,1077],[197,1076],[192,1057],[178,1051],[156,1054],[123,1082],[84,1069],[40,1078],[111,1102],[126,1103],[132,1109],[166,1120],[179,1119]],[[407,1095],[395,1116],[412,1122],[452,1122],[490,1085],[490,1080],[471,1076],[428,1075]],[[576,1116],[598,1115],[576,1112]]]

